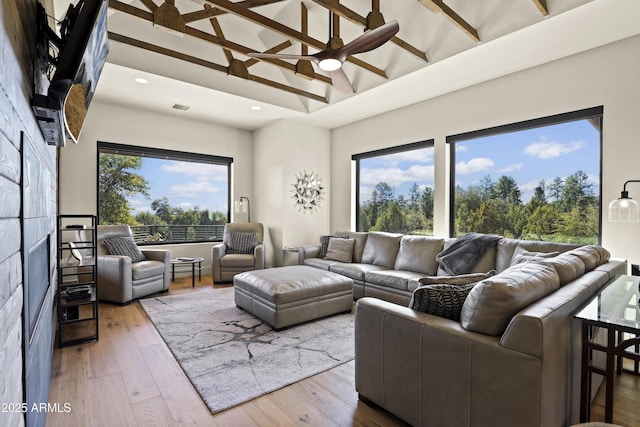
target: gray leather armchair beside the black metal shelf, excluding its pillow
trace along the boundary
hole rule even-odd
[[[171,251],[141,249],[146,260],[132,263],[128,256],[110,255],[103,242],[112,237],[131,237],[128,225],[99,225],[97,234],[99,300],[128,304],[169,290]]]

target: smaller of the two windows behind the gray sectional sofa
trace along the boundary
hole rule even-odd
[[[433,234],[433,141],[356,154],[358,231]]]

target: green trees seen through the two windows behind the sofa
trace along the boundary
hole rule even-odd
[[[525,204],[516,181],[490,176],[477,185],[456,187],[455,235],[470,232],[499,234],[515,239],[596,244],[599,234],[599,200],[583,171],[565,180],[541,180]],[[407,234],[433,233],[433,189],[414,183],[407,197],[393,196],[385,182],[361,204],[359,229]]]

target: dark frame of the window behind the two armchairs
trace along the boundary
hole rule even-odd
[[[103,153],[112,153],[137,157],[148,157],[155,159],[167,159],[182,162],[196,162],[224,165],[227,167],[227,223],[231,221],[231,189],[232,189],[232,168],[233,157],[217,156],[212,154],[191,153],[187,151],[169,150],[156,147],[142,147],[136,145],[117,144],[113,142],[98,141],[96,150],[96,212],[100,212],[100,155]],[[100,218],[97,218],[100,224]],[[144,245],[183,245],[193,243],[220,242],[222,239],[214,240],[184,240],[184,241],[153,241],[153,242],[136,242],[140,246]]]

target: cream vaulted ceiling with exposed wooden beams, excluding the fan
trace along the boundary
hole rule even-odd
[[[584,31],[580,19],[602,16],[589,8],[603,1],[109,0],[110,53],[95,96],[245,129],[284,117],[335,127],[553,59]],[[55,4],[59,16],[68,1]],[[313,54],[332,37],[346,44],[393,20],[400,27],[393,39],[343,64],[353,91],[337,90],[330,74],[308,61],[248,56]],[[553,43],[550,31],[557,32]],[[589,34],[597,40],[583,39],[576,49],[612,37],[619,38]],[[524,49],[515,59],[530,64],[505,69],[500,45]],[[174,104],[189,109],[170,110]]]

